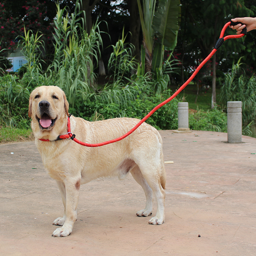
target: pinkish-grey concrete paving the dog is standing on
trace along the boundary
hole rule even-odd
[[[165,164],[164,224],[136,216],[145,196],[131,175],[104,178],[81,187],[68,237],[51,236],[63,205],[34,142],[0,145],[0,255],[256,255],[256,139],[160,133],[174,162]]]

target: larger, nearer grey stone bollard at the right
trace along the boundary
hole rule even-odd
[[[228,143],[242,142],[242,101],[228,101]]]

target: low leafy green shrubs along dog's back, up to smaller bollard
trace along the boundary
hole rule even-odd
[[[139,92],[138,92],[139,93]],[[142,119],[158,104],[171,96],[171,91],[167,90],[162,95],[142,96],[141,98],[128,101],[128,105],[118,105],[113,102],[105,102],[98,97],[95,101],[80,102],[76,108],[70,108],[69,112],[74,116],[82,117],[88,121],[95,121],[115,118],[133,117]],[[143,95],[143,93],[142,93]],[[95,119],[95,117],[97,117]],[[156,129],[177,129],[178,128],[178,100],[174,98],[163,107],[156,110],[146,123]]]

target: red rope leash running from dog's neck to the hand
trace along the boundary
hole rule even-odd
[[[89,144],[89,143],[85,143],[85,142],[82,142],[80,140],[77,140],[75,138],[75,134],[72,134],[71,131],[70,131],[70,120],[69,120],[69,117],[68,117],[68,134],[65,134],[65,135],[60,135],[59,138],[60,139],[68,139],[68,138],[71,138],[72,140],[74,140],[76,143],[82,145],[82,146],[85,146],[85,147],[100,147],[100,146],[103,146],[103,145],[107,145],[107,144],[110,144],[110,143],[114,143],[114,142],[117,142],[117,141],[120,141],[120,140],[123,140],[124,138],[126,138],[127,136],[129,136],[132,132],[134,132],[143,122],[145,122],[148,117],[150,117],[153,113],[156,112],[156,110],[158,108],[161,108],[162,106],[164,106],[166,103],[168,103],[169,101],[171,101],[172,99],[174,99],[193,79],[194,77],[196,76],[196,74],[198,73],[198,71],[204,66],[204,64],[210,60],[213,56],[213,54],[220,48],[220,46],[223,44],[224,41],[226,41],[227,39],[230,39],[230,38],[240,38],[244,35],[246,35],[246,30],[242,31],[242,33],[240,35],[230,35],[230,36],[224,36],[224,32],[226,30],[226,28],[228,28],[228,26],[230,25],[230,23],[232,22],[228,22],[225,24],[225,26],[222,28],[221,30],[221,33],[220,33],[220,38],[218,39],[214,49],[212,50],[212,52],[199,64],[199,66],[196,68],[196,70],[194,71],[194,73],[188,78],[188,80],[182,85],[180,86],[180,88],[174,92],[174,94],[167,100],[164,100],[162,103],[160,103],[159,105],[157,105],[154,109],[152,109],[147,116],[145,116],[143,119],[140,120],[140,122],[138,124],[136,124],[129,132],[125,133],[123,136],[119,137],[119,138],[116,138],[116,139],[113,139],[113,140],[108,140],[108,141],[105,141],[105,142],[101,142],[101,143],[97,143],[97,144]],[[232,24],[233,25],[233,24]],[[42,139],[43,140],[43,139]],[[49,140],[43,140],[43,141],[49,141]]]

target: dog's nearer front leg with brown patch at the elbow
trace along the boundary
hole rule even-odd
[[[64,221],[63,226],[61,228],[57,228],[52,233],[52,236],[68,236],[72,232],[72,228],[77,217],[76,208],[79,198],[80,180],[81,177],[77,179],[72,178],[65,180],[64,186],[66,191],[66,207],[65,200],[63,200],[62,198],[64,204],[64,216],[63,218],[61,218],[61,221],[64,221],[65,218],[66,219]]]

